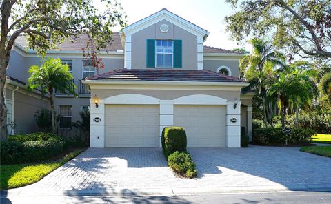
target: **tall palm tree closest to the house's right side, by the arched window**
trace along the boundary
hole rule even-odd
[[[253,52],[246,55],[239,62],[241,70],[245,70],[245,79],[250,82],[248,88],[257,92],[257,96],[262,99],[263,105],[263,120],[265,128],[268,125],[267,110],[266,110],[266,90],[269,85],[270,78],[272,78],[275,67],[283,67],[285,57],[279,52],[275,52],[273,45],[263,39],[251,39],[249,43],[253,47]],[[269,114],[271,114],[269,112]],[[270,125],[272,121],[270,120]]]

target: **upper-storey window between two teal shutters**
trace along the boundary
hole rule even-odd
[[[172,68],[173,42],[172,40],[156,40],[157,67]]]

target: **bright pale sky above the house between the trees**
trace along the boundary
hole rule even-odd
[[[225,32],[225,17],[234,13],[225,0],[118,0],[118,2],[128,16],[128,25],[162,8],[167,8],[183,19],[208,30],[210,34],[204,45],[228,50],[244,48],[241,43],[231,41],[230,33]]]

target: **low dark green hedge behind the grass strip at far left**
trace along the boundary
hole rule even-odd
[[[44,161],[62,154],[67,149],[66,142],[59,137],[45,141],[6,141],[1,142],[1,164],[18,164]]]

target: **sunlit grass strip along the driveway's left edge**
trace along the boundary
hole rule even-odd
[[[40,179],[43,179],[43,176],[46,176],[67,161],[70,161],[78,154],[81,154],[81,152],[84,150],[85,149],[74,150],[73,152],[66,154],[66,156],[63,156],[62,159],[57,161],[46,161],[19,165],[1,165],[0,189],[3,190],[36,183]]]

